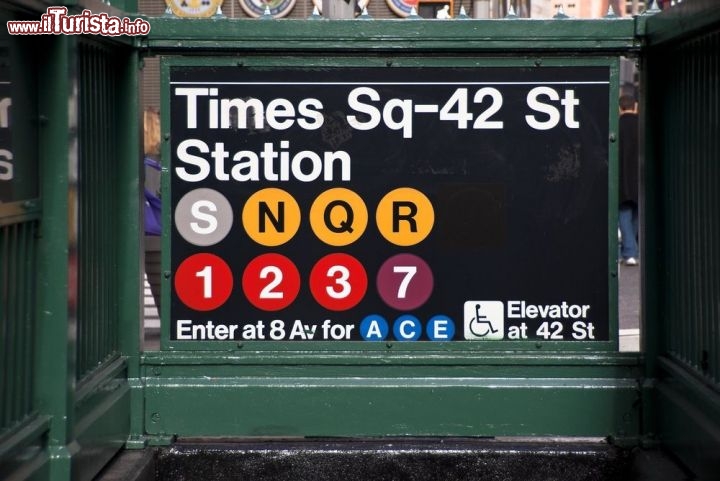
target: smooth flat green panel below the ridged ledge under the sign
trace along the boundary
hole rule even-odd
[[[177,436],[637,436],[633,380],[152,380],[147,432]]]

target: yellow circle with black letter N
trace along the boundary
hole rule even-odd
[[[252,240],[264,246],[279,246],[300,228],[300,206],[282,189],[262,189],[245,202],[242,221]]]

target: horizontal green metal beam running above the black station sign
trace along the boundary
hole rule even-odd
[[[144,48],[154,51],[373,52],[407,54],[443,49],[470,51],[627,51],[639,46],[632,19],[254,21],[146,17],[151,24]],[[360,52],[363,53],[360,53]]]

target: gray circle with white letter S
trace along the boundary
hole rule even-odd
[[[190,244],[215,245],[232,229],[230,202],[213,189],[191,190],[175,206],[175,228]]]

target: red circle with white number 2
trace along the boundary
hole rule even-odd
[[[279,311],[300,292],[300,272],[284,255],[263,254],[247,265],[242,283],[250,304],[263,311]]]

